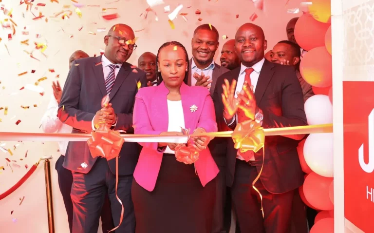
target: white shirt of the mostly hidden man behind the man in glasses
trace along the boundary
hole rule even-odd
[[[44,133],[61,133],[67,134],[72,133],[73,128],[70,125],[64,124],[57,117],[58,104],[54,95],[51,96],[47,111],[41,118],[41,128]],[[61,155],[65,155],[66,148],[68,147],[69,141],[59,141],[58,147]]]

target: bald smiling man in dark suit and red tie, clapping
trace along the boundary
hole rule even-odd
[[[237,31],[235,41],[242,65],[218,78],[213,97],[219,130],[234,129],[237,123],[248,119],[264,128],[306,125],[295,70],[264,59],[267,42],[262,28],[245,23]],[[233,140],[228,140],[226,181],[241,232],[290,232],[294,193],[304,181],[296,149],[302,137],[267,136],[266,149],[258,153],[241,153],[234,149]],[[262,194],[261,202],[252,182],[262,163],[262,173],[255,184]],[[299,212],[302,214],[304,209]]]

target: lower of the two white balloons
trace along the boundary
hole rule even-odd
[[[313,172],[334,177],[333,133],[311,134],[304,144],[304,158]]]

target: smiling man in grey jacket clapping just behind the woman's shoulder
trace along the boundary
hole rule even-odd
[[[213,25],[202,24],[198,26],[193,32],[191,41],[193,57],[188,62],[188,85],[205,86],[209,89],[211,96],[213,96],[217,78],[229,71],[213,60],[220,45],[218,39],[218,31]],[[216,137],[208,145],[210,153],[220,169],[220,173],[216,177],[216,203],[214,205],[212,233],[227,232],[231,220],[231,208],[230,205],[226,205],[226,144],[224,138]]]

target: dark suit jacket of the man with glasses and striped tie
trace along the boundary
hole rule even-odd
[[[92,131],[92,119],[101,109],[101,99],[107,94],[101,56],[96,58],[78,59],[73,63],[62,92],[58,109],[60,120],[73,127],[72,133]],[[78,66],[75,64],[78,63]],[[132,109],[135,95],[138,92],[137,82],[147,86],[146,74],[136,68],[132,72],[131,64],[125,62],[114,81],[110,103],[118,116],[114,130],[125,130],[133,133]],[[131,175],[139,158],[138,143],[125,142],[118,159],[119,175]],[[96,158],[91,156],[86,141],[71,141],[68,144],[63,166],[71,171],[87,174],[93,167]],[[87,168],[82,167],[87,164]],[[115,174],[115,159],[108,161],[110,169]]]

